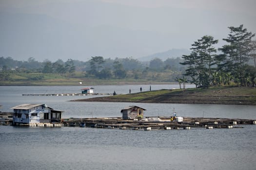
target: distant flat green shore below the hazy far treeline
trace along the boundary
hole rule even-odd
[[[98,79],[85,78],[82,72],[76,72],[72,77],[65,77],[59,74],[43,73],[16,73],[11,74],[10,80],[0,81],[0,85],[160,85],[174,84],[158,79]],[[162,79],[163,80],[163,79]]]

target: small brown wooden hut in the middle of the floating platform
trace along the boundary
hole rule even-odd
[[[138,106],[129,106],[121,110],[121,113],[123,114],[123,119],[142,119],[143,118],[143,112],[146,109],[143,109]]]

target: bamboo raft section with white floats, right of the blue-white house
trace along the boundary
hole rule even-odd
[[[121,118],[94,118],[94,119],[65,119],[64,126],[79,126],[85,123],[85,127],[108,129],[132,129],[132,130],[171,130],[191,128],[242,128],[241,124],[256,124],[252,119],[225,119],[225,118],[190,118],[183,117],[182,122],[170,121],[170,117],[158,118],[159,121],[123,120]]]

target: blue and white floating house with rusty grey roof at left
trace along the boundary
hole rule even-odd
[[[46,104],[20,104],[11,109],[14,125],[61,122],[63,112],[54,110]]]

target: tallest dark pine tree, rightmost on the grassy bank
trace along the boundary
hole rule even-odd
[[[218,57],[218,68],[224,72],[230,72],[236,83],[246,86],[245,66],[250,59],[250,51],[252,50],[250,43],[255,34],[248,32],[246,28],[243,28],[243,25],[228,28],[230,34],[223,40],[229,44],[219,48],[223,54]]]

